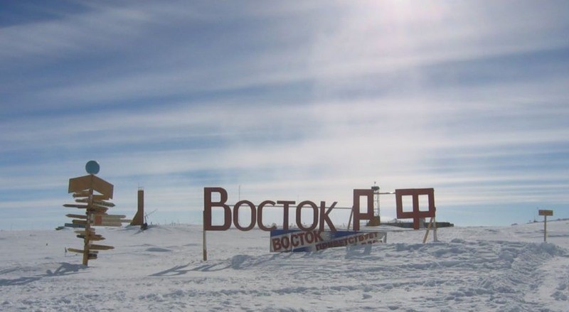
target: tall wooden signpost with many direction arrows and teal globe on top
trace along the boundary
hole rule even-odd
[[[88,176],[69,179],[68,193],[73,193],[74,204],[65,204],[63,207],[85,209],[85,215],[68,214],[72,217],[71,223],[65,223],[68,227],[79,227],[83,230],[75,231],[77,237],[83,239],[83,249],[67,248],[69,252],[83,254],[83,265],[89,260],[97,259],[98,250],[114,249],[115,247],[92,244],[91,241],[105,240],[102,235],[95,234],[95,226],[120,227],[125,220],[124,215],[107,215],[110,207],[115,207],[112,199],[113,185],[95,176],[99,172],[99,164],[96,161],[87,162],[85,166]]]

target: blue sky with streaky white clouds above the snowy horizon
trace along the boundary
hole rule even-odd
[[[567,1],[2,1],[0,230],[435,188],[437,221],[569,217]],[[282,221],[282,211],[267,221]],[[347,223],[348,210],[334,212]],[[395,217],[393,195],[380,214]],[[310,220],[307,219],[307,222]]]

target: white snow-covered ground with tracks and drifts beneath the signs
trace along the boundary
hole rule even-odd
[[[377,228],[374,228],[377,229]],[[0,311],[569,311],[569,221],[424,231],[381,226],[371,249],[270,253],[269,233],[97,228],[89,267],[73,229],[0,231]]]

